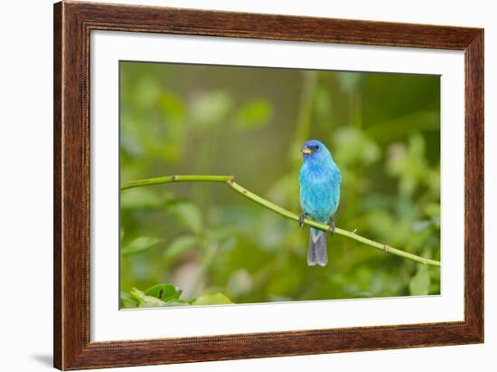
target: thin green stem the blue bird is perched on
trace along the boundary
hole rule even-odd
[[[278,215],[282,215],[282,216],[284,216],[290,220],[293,220],[295,222],[298,222],[298,219],[299,219],[299,216],[295,215],[295,213],[287,211],[285,208],[282,208],[279,205],[273,204],[273,203],[267,201],[266,199],[264,199],[260,196],[257,196],[256,194],[248,191],[246,188],[239,186],[239,184],[237,184],[234,181],[233,176],[162,176],[162,177],[156,177],[156,178],[147,178],[147,179],[141,179],[141,180],[137,180],[137,181],[125,182],[123,185],[121,185],[121,190],[127,190],[128,188],[141,187],[141,186],[162,185],[162,184],[168,184],[171,182],[223,182],[226,185],[230,186],[233,190],[235,190],[240,195],[247,197],[248,199],[252,200],[253,202],[257,203],[258,205],[264,206],[265,208],[277,213]],[[305,218],[304,224],[306,224],[308,226],[312,226],[312,227],[319,229],[319,230],[323,230],[323,231],[330,230],[329,224],[320,224],[318,222],[315,222],[315,221],[307,219],[307,218]],[[349,232],[349,231],[342,230],[341,228],[337,227],[337,228],[335,228],[334,234],[346,236],[352,240],[364,243],[366,245],[369,245],[370,247],[373,247],[373,248],[376,248],[380,251],[383,251],[384,253],[394,254],[396,256],[403,257],[405,259],[419,262],[419,263],[423,263],[426,265],[440,267],[439,261],[430,260],[430,259],[427,259],[424,257],[417,256],[416,254],[404,252],[404,251],[399,250],[397,248],[390,247],[387,244],[372,241],[372,240],[367,239],[361,235],[355,234],[355,232]]]

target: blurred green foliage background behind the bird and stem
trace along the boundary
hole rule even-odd
[[[310,138],[342,170],[338,226],[440,259],[438,76],[120,62],[121,182],[234,175],[299,213]],[[438,268],[337,235],[308,267],[307,228],[220,184],[124,191],[120,218],[122,308],[440,292]]]

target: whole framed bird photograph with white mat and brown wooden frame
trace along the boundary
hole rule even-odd
[[[54,366],[483,342],[483,30],[54,5]]]

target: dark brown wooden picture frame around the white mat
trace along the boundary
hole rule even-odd
[[[91,30],[464,51],[464,321],[90,342]],[[53,43],[55,367],[121,367],[483,342],[483,29],[137,5],[59,3],[54,5]]]

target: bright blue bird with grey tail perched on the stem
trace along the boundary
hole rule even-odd
[[[340,169],[333,161],[332,154],[318,140],[305,142],[302,147],[304,164],[300,168],[300,205],[302,215],[299,224],[304,225],[305,217],[314,221],[330,224],[333,234],[335,224],[333,215],[340,202],[340,184],[342,175]],[[326,233],[311,227],[309,248],[307,251],[307,264],[314,266],[326,265],[328,255],[326,253]]]

